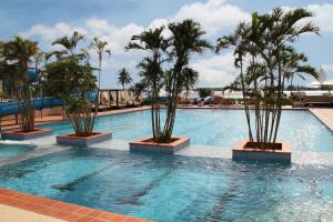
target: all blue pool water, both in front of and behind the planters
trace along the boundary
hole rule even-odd
[[[47,128],[72,132],[69,123]],[[95,130],[134,140],[151,133],[150,112],[99,118]],[[179,110],[174,134],[199,147],[230,149],[248,131],[243,111]],[[297,151],[333,152],[332,132],[306,111],[283,111],[279,139]],[[18,153],[27,148],[17,147]],[[0,188],[162,222],[333,221],[333,164],[73,148],[0,168]]]

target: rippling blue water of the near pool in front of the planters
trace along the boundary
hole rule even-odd
[[[1,188],[155,221],[332,221],[333,167],[71,149],[3,167]]]

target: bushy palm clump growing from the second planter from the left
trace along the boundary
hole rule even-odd
[[[65,102],[65,113],[72,123],[75,134],[88,137],[92,134],[95,112],[89,101],[89,92],[97,89],[95,70],[89,62],[85,49],[77,50],[84,37],[74,32],[71,37],[57,39],[63,50],[54,51],[56,60],[46,65],[48,92],[60,97]]]

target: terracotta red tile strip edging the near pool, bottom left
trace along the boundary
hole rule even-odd
[[[149,220],[94,210],[7,189],[0,189],[0,204],[70,222],[149,222]]]

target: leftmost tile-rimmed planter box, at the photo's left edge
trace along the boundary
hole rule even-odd
[[[22,132],[20,130],[1,132],[2,140],[32,140],[37,138],[52,135],[53,130],[34,129],[32,132]]]

